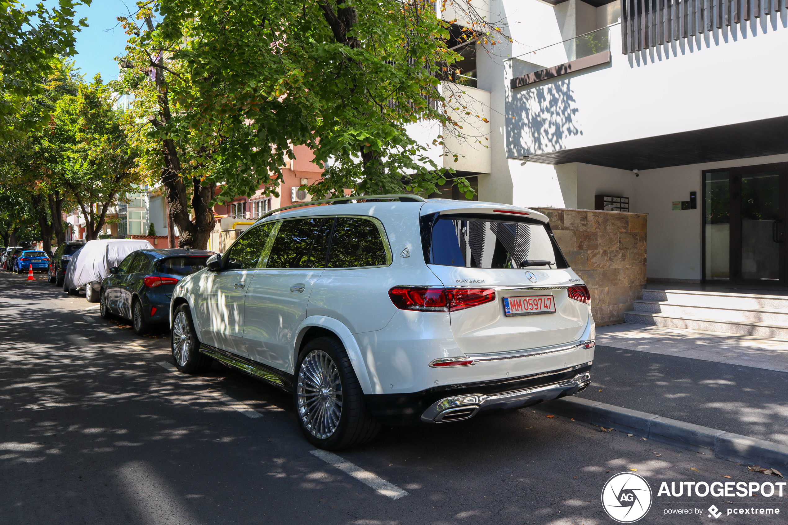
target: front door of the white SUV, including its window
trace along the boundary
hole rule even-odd
[[[245,356],[243,298],[266,245],[270,224],[243,232],[222,257],[221,272],[200,279],[199,338],[210,346]]]

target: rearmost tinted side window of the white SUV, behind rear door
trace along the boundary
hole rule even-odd
[[[337,217],[331,238],[328,268],[358,268],[388,264],[377,224],[369,219]]]

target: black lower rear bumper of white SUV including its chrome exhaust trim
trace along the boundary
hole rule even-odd
[[[375,419],[388,425],[466,420],[577,394],[591,383],[592,364],[513,379],[436,386],[413,394],[369,394],[366,405]]]

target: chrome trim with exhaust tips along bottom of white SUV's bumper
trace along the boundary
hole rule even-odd
[[[421,416],[425,423],[446,423],[448,421],[466,420],[478,412],[489,409],[516,409],[530,401],[549,401],[556,397],[577,394],[591,383],[591,374],[583,372],[559,383],[537,386],[515,392],[504,392],[485,396],[484,394],[466,394],[452,396],[436,401]],[[470,409],[470,410],[469,410]],[[466,412],[459,412],[465,410]],[[459,414],[458,414],[459,412]],[[453,417],[453,415],[463,415]]]

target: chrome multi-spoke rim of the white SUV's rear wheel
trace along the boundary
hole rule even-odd
[[[334,360],[322,350],[303,358],[296,384],[298,412],[315,438],[330,438],[342,416],[342,383]]]

